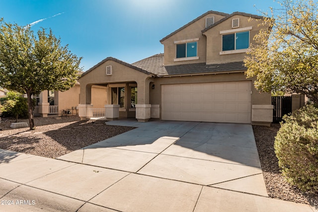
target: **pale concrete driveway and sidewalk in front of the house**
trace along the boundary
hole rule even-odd
[[[138,128],[58,160],[0,150],[0,211],[314,211],[267,197],[250,125],[107,124]]]

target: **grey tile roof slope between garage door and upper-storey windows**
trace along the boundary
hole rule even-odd
[[[204,73],[234,72],[247,70],[247,68],[244,66],[244,62],[220,63],[210,65],[206,65],[205,63],[197,63],[164,66],[163,54],[154,55],[152,57],[133,63],[133,65],[143,70],[152,72],[159,77],[173,75],[197,75]]]

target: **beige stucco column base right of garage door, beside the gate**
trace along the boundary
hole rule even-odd
[[[274,105],[252,105],[252,125],[267,125],[273,122]]]

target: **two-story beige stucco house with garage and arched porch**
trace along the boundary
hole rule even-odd
[[[164,54],[134,64],[106,58],[79,78],[79,116],[101,85],[108,119],[271,123],[271,95],[254,89],[243,64],[262,18],[208,11],[162,38]]]

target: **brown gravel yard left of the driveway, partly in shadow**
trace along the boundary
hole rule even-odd
[[[79,121],[77,116],[55,118],[35,117],[35,130],[11,129],[14,120],[0,123],[0,148],[43,157],[56,158],[84,146],[109,139],[134,129],[109,126],[105,121]],[[19,120],[27,122],[28,120]]]

